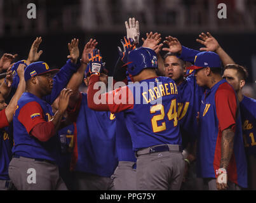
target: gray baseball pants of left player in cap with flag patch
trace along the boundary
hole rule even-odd
[[[9,176],[17,190],[67,190],[58,166],[50,162],[13,157]]]

